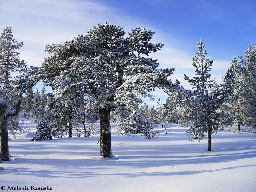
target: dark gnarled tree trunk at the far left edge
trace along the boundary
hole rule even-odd
[[[3,161],[9,161],[8,129],[5,113],[0,117],[1,132],[1,158]]]

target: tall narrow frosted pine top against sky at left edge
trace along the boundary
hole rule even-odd
[[[16,43],[9,25],[0,36],[0,97],[9,100],[12,89],[11,74],[14,71],[22,72],[25,68],[24,60],[19,59],[19,50],[23,42]]]

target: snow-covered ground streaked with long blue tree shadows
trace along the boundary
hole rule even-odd
[[[36,124],[24,126],[35,131]],[[115,126],[113,126],[115,127]],[[52,187],[52,191],[225,191],[256,190],[256,141],[252,135],[228,128],[188,142],[186,127],[145,139],[118,135],[112,128],[116,160],[99,157],[99,135],[30,141],[32,133],[9,140],[14,160],[0,164],[0,185]],[[3,188],[2,188],[3,189]],[[8,190],[12,191],[12,190]],[[14,190],[13,190],[14,191]],[[48,190],[49,191],[49,190]]]

